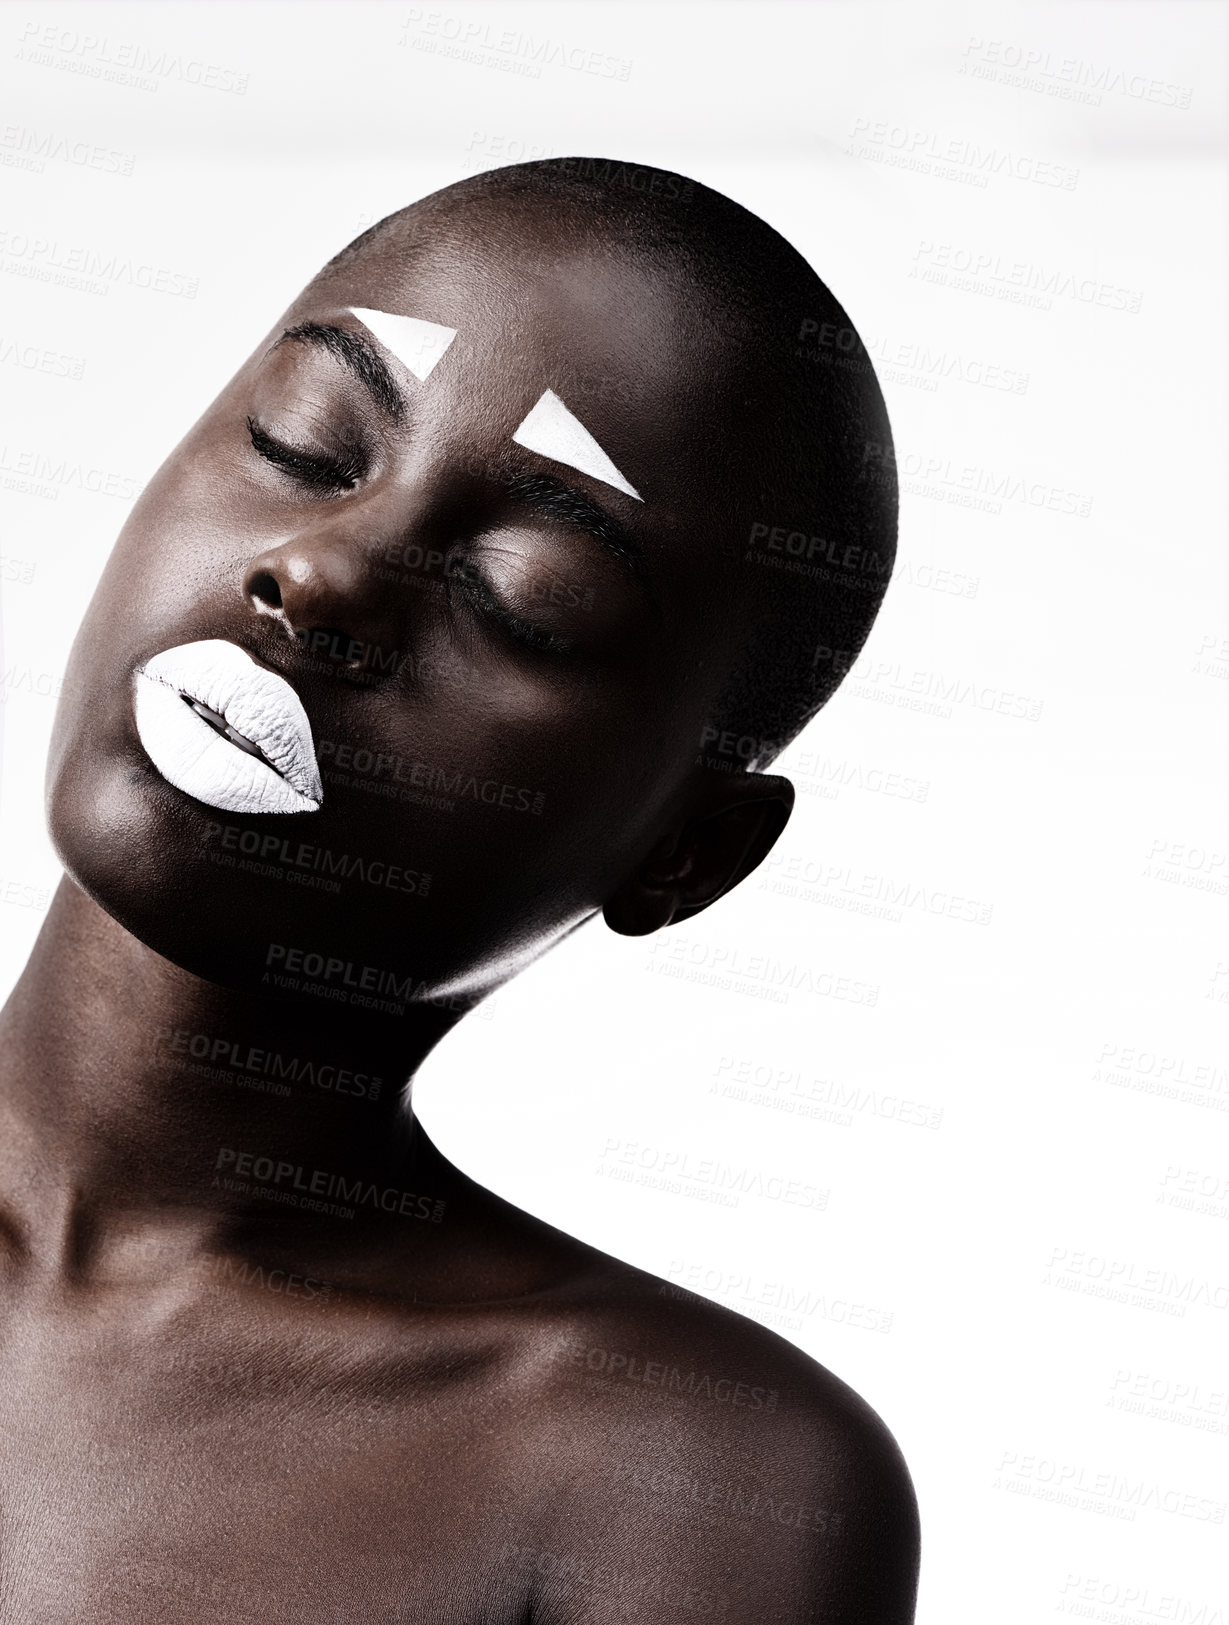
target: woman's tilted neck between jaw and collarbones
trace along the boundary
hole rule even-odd
[[[65,878],[0,1014],[0,1224],[85,1271],[138,1232],[189,1251],[236,1237],[353,1246],[393,1211],[345,1225],[320,1212],[354,1181],[455,1193],[463,1176],[410,1105],[455,1012],[309,1004],[180,970]]]

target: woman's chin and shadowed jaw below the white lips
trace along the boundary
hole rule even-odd
[[[312,1008],[403,1014],[410,1001],[468,1009],[491,983],[481,921],[428,890],[402,895],[223,852],[236,814],[190,801],[138,759],[59,751],[49,829],[75,884],[180,970]],[[314,814],[244,817],[273,855],[312,842]],[[306,884],[304,884],[306,879]],[[476,962],[478,960],[478,962]],[[502,980],[502,977],[499,978]]]

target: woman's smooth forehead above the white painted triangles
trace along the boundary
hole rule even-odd
[[[324,273],[294,317],[371,309],[455,328],[416,403],[510,439],[554,392],[658,515],[712,517],[746,362],[720,312],[655,260],[541,221],[449,221]],[[392,234],[390,234],[392,236]],[[699,500],[704,496],[704,500]]]

